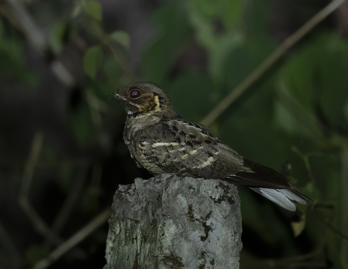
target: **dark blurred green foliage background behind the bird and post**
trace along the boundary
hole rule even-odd
[[[17,204],[34,133],[45,139],[30,200],[53,227],[70,197],[70,217],[56,231],[68,238],[110,207],[118,184],[150,177],[126,152],[125,113],[106,99],[109,93],[151,81],[180,115],[201,121],[279,45],[278,22],[291,25],[289,34],[326,4],[149,1],[150,11],[143,12],[139,3],[127,9],[111,2],[102,1],[112,10],[97,1],[19,2],[46,35],[44,50],[27,38],[33,29],[20,26],[24,17],[1,4],[0,199],[8,206],[0,208],[0,228],[13,240],[9,255],[0,251],[1,268],[34,264],[55,245],[47,238],[41,244]],[[282,5],[288,7],[277,15]],[[287,17],[280,19],[282,12]],[[325,20],[210,126],[224,143],[282,171],[313,200],[291,213],[239,187],[240,268],[348,268],[348,40],[338,27],[332,17]],[[56,62],[66,70],[54,68]],[[88,255],[97,257],[94,267],[103,266],[106,233],[105,225],[51,268],[88,268]],[[73,254],[81,249],[88,255]],[[18,255],[16,263],[6,260]]]

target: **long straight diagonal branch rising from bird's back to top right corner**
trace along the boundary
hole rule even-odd
[[[320,10],[314,17],[306,22],[299,30],[294,32],[290,37],[285,39],[283,43],[271,53],[258,68],[256,68],[249,76],[247,76],[242,83],[240,83],[225,99],[223,99],[217,106],[203,119],[202,124],[210,125],[217,117],[219,117],[224,110],[226,110],[232,102],[234,102],[241,94],[243,94],[248,87],[250,87],[261,76],[284,55],[284,53],[296,44],[302,37],[310,32],[318,23],[323,21],[334,10],[336,10],[346,0],[334,0],[329,5]]]

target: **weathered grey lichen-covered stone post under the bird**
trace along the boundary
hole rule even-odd
[[[163,174],[120,185],[104,269],[236,269],[242,218],[236,187]]]

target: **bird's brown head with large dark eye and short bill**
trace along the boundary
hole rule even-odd
[[[128,114],[159,114],[162,116],[176,115],[172,101],[156,84],[140,82],[121,87],[108,96],[119,100],[128,110]]]

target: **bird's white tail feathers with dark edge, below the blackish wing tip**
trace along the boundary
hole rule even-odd
[[[296,189],[267,189],[261,187],[250,187],[253,191],[276,203],[287,210],[295,211],[295,202],[306,205],[310,199]]]

